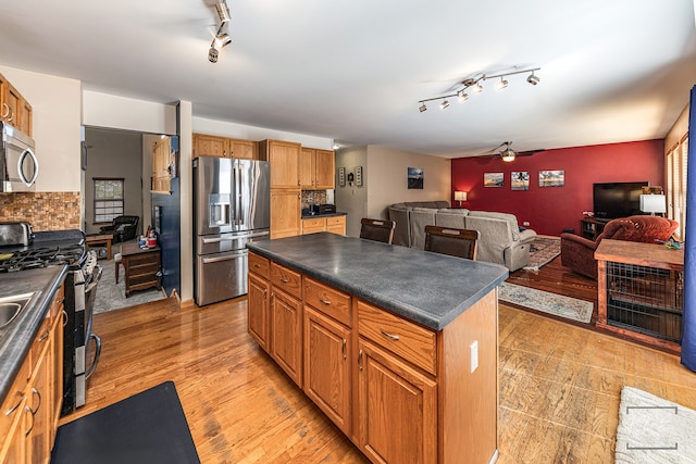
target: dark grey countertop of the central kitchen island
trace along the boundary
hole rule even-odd
[[[497,264],[328,233],[247,248],[434,330],[508,277]]]

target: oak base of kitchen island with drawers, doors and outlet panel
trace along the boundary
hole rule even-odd
[[[249,256],[258,264],[250,264],[257,271],[249,274],[249,288],[269,269],[272,358],[372,462],[495,461],[495,289],[435,331],[314,277],[273,261],[268,265],[256,253]],[[263,304],[250,291],[249,317]]]

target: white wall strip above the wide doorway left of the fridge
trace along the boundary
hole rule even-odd
[[[176,135],[176,106],[96,91],[83,91],[83,124]]]

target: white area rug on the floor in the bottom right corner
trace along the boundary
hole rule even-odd
[[[696,411],[623,387],[617,463],[696,463]]]

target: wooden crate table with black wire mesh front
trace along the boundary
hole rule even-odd
[[[597,327],[680,353],[684,251],[604,239],[595,259]]]

